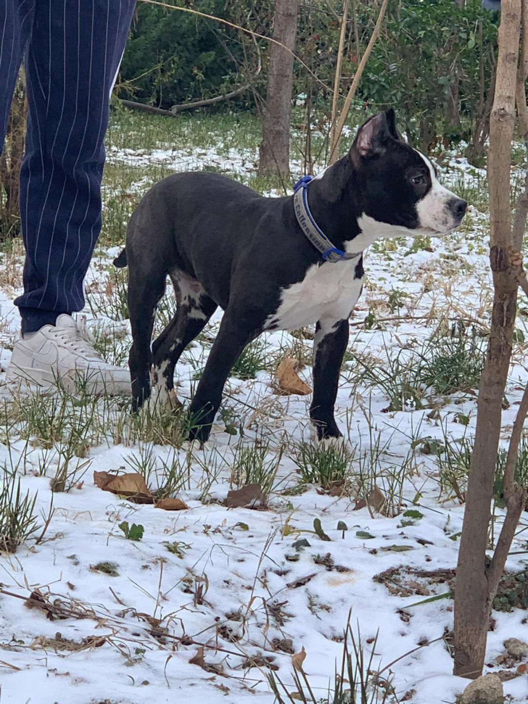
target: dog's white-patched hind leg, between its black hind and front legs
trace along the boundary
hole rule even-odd
[[[171,406],[170,391],[174,386],[174,367],[181,353],[205,327],[217,304],[205,294],[200,283],[181,270],[171,272],[177,308],[169,325],[153,342],[151,402]]]

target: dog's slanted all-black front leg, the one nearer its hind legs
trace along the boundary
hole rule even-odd
[[[247,343],[256,337],[255,330],[248,331],[247,327],[241,326],[238,320],[240,318],[237,315],[227,310],[224,313],[217,339],[214,340],[202,378],[189,406],[190,440],[204,443],[209,438],[231,367]]]

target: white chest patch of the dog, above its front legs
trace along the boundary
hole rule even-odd
[[[349,318],[363,284],[363,277],[356,278],[358,261],[312,265],[302,281],[282,290],[281,304],[264,329],[291,330],[318,320]]]

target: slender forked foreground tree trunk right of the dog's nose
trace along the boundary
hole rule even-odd
[[[490,264],[495,294],[487,357],[479,385],[475,446],[456,570],[454,674],[464,677],[479,677],[482,673],[491,603],[506,563],[508,540],[511,542],[513,538],[512,525],[516,524],[515,512],[508,507],[496,553],[487,571],[485,556],[501,405],[517,306],[518,261],[514,257],[510,225],[510,150],[515,124],[520,17],[521,0],[503,0],[488,156]]]

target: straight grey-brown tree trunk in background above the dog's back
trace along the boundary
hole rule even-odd
[[[297,34],[298,0],[277,0],[273,42],[269,48],[268,91],[259,147],[259,173],[284,177],[290,172],[290,113],[292,109],[293,54]]]

